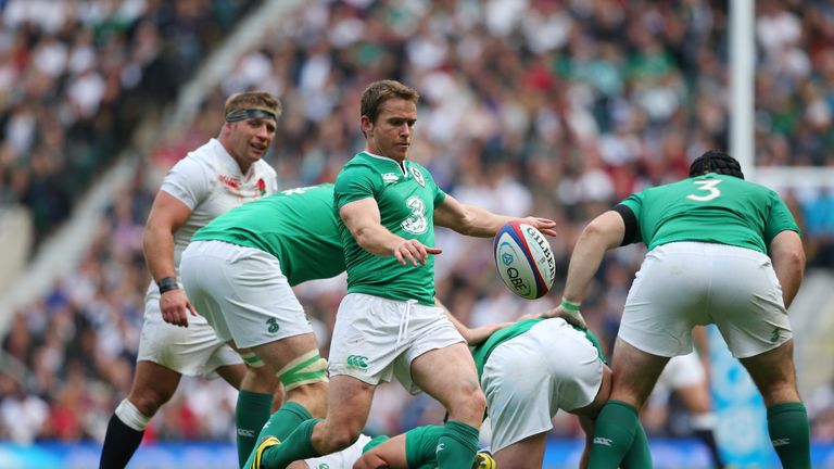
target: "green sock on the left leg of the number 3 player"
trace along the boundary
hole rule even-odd
[[[631,449],[639,428],[641,427],[637,410],[634,407],[620,401],[608,401],[594,424],[594,440],[587,467],[590,469],[619,467]]]

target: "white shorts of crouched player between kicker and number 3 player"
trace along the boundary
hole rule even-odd
[[[481,375],[493,453],[549,431],[559,409],[591,404],[603,383],[603,362],[583,332],[564,319],[543,320],[490,354]]]

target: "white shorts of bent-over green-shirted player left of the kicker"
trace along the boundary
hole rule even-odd
[[[249,348],[313,333],[274,255],[223,241],[194,241],[182,252],[182,286],[223,341]]]

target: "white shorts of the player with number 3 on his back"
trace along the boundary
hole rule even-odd
[[[629,290],[619,338],[644,352],[685,355],[692,329],[715,324],[746,358],[793,338],[782,287],[767,255],[744,248],[675,242],[646,254]]]

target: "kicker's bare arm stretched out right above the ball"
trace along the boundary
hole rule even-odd
[[[452,195],[446,195],[440,205],[434,207],[434,225],[453,229],[460,234],[489,238],[508,221],[520,220],[539,229],[539,231],[556,236],[556,221],[539,217],[510,217],[497,215],[485,208],[462,204]]]

